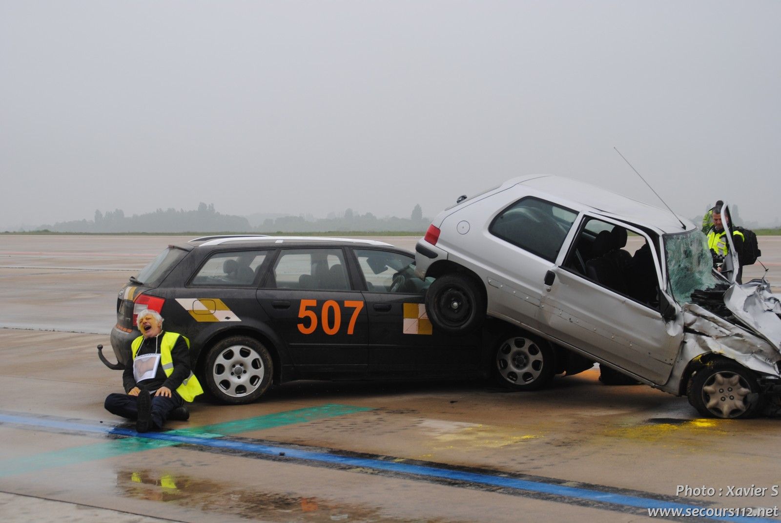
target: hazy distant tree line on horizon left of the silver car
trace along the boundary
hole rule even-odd
[[[53,232],[326,232],[326,231],[426,231],[429,218],[415,205],[409,218],[378,218],[372,213],[358,214],[352,209],[341,216],[326,218],[311,215],[268,218],[252,227],[246,217],[218,213],[214,204],[201,202],[198,210],[155,210],[153,213],[127,217],[121,209],[102,213],[95,211],[93,220],[72,220],[41,225],[38,230]]]

